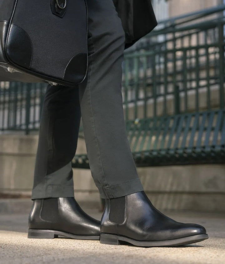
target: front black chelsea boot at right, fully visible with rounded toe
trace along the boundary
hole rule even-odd
[[[160,213],[144,191],[106,201],[100,243],[178,246],[208,238],[203,226],[183,224]]]

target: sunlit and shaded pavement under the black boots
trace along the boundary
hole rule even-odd
[[[83,208],[100,219],[98,210]],[[28,239],[27,213],[0,213],[0,263],[202,263],[225,264],[225,214],[164,212],[181,222],[206,227],[209,239],[187,246],[143,248],[103,245],[68,238]]]

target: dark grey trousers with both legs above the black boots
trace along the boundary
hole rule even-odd
[[[47,88],[32,199],[74,196],[71,160],[81,116],[90,169],[101,197],[117,198],[143,190],[123,117],[121,20],[112,0],[87,3],[88,76],[77,88]]]

